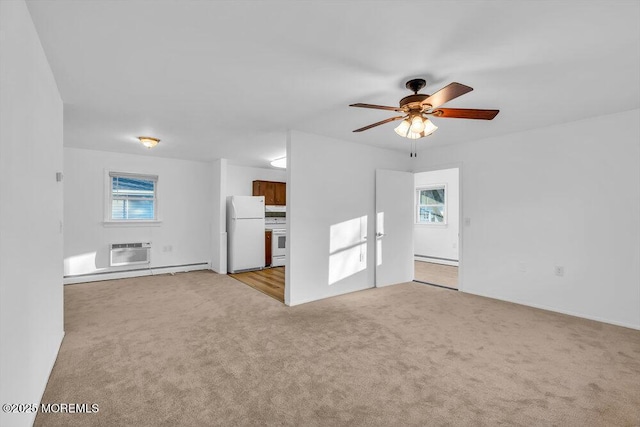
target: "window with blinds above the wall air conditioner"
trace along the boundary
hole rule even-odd
[[[109,173],[109,221],[156,221],[158,177]]]

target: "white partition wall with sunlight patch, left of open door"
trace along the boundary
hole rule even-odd
[[[287,157],[285,302],[296,305],[373,287],[375,170],[408,170],[406,153],[291,131]],[[331,244],[332,226],[344,233],[353,225],[357,234],[362,218],[367,224],[366,262],[362,270],[330,284],[336,277],[332,269],[350,270],[353,263],[358,263],[340,259],[345,263],[340,267],[334,262],[337,258],[331,258],[332,251],[340,256]]]

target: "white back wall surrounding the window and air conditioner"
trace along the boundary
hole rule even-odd
[[[144,149],[141,147],[141,152]],[[64,149],[65,276],[109,267],[111,243],[151,242],[151,265],[211,261],[212,165],[104,151]],[[105,171],[158,175],[158,226],[105,226]]]

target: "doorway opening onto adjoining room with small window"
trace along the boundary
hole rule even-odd
[[[460,168],[414,174],[414,281],[459,288]]]

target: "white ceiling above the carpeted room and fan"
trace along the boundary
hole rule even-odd
[[[640,107],[640,2],[30,0],[65,104],[65,146],[268,166],[286,130],[409,152],[404,83],[457,81],[418,151]],[[138,135],[162,139],[144,149]]]

